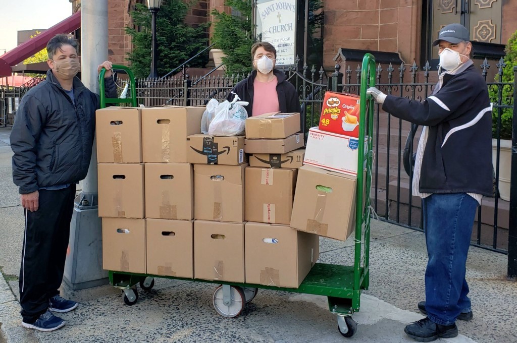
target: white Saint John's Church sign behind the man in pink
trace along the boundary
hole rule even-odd
[[[296,57],[296,0],[257,0],[257,34],[277,49],[277,66],[289,66]]]

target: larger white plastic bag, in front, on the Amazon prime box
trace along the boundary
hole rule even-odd
[[[235,94],[232,92],[232,94]],[[211,136],[237,136],[244,133],[248,113],[242,106],[247,106],[248,102],[239,101],[240,98],[235,94],[232,102],[225,100],[216,108],[214,120],[208,127],[208,134]]]

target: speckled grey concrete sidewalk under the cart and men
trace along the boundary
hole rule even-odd
[[[23,214],[11,180],[11,152],[0,129],[0,343],[18,342],[411,342],[404,326],[423,318],[427,263],[422,233],[372,222],[370,290],[354,315],[358,332],[342,337],[325,297],[260,290],[234,319],[217,315],[211,304],[215,285],[157,279],[155,288],[126,306],[120,291],[106,285],[83,291],[63,287],[80,306],[62,315],[65,328],[40,333],[21,328],[18,278]],[[8,134],[7,134],[8,137]],[[5,145],[2,145],[4,143]],[[320,262],[353,264],[353,239],[321,239]],[[467,280],[474,320],[458,322],[460,336],[444,342],[517,343],[517,284],[506,280],[502,254],[471,248]]]

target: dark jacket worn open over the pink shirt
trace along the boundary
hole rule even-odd
[[[300,98],[298,97],[296,88],[293,86],[292,83],[287,81],[287,76],[280,70],[275,69],[273,70],[273,73],[277,76],[278,80],[277,95],[278,104],[280,105],[280,112],[300,113]],[[252,116],[251,112],[253,108],[253,81],[255,81],[256,75],[257,71],[253,70],[249,77],[240,81],[232,89],[232,91],[239,96],[241,101],[249,102],[248,106],[245,106],[246,112],[248,112],[248,117]],[[234,97],[235,96],[232,93],[229,93],[227,100],[232,102]]]

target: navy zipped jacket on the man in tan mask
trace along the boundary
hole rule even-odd
[[[117,97],[111,77],[105,79],[105,93]],[[86,177],[100,99],[78,77],[73,94],[75,106],[49,70],[47,80],[23,96],[10,136],[12,178],[20,194]]]

